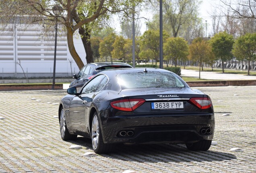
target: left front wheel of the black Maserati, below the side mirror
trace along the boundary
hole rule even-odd
[[[62,140],[68,141],[68,140],[75,140],[77,135],[71,135],[68,131],[67,125],[66,125],[66,115],[64,112],[63,107],[60,111],[60,135]]]

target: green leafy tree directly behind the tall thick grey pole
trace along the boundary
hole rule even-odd
[[[163,42],[169,37],[167,32],[163,30]],[[155,59],[155,64],[157,64],[157,60],[159,59],[159,30],[147,30],[140,37],[142,53],[141,56],[144,56],[144,51],[151,52],[148,54],[150,58]],[[147,54],[146,54],[147,55]],[[153,64],[153,62],[152,62]]]

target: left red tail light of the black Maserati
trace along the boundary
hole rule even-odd
[[[143,103],[145,103],[144,99],[124,99],[111,102],[110,105],[120,111],[134,111]]]

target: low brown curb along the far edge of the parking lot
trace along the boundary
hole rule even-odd
[[[256,85],[256,80],[216,80],[187,82],[190,87],[225,87]],[[69,85],[69,84],[68,84]],[[55,90],[67,89],[67,84],[55,84]],[[0,91],[51,90],[52,84],[2,84]]]

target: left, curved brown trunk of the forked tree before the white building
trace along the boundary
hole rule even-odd
[[[81,69],[84,66],[84,63],[81,60],[81,58],[79,57],[79,55],[77,54],[76,49],[74,47],[74,40],[73,40],[74,33],[72,32],[71,27],[68,27],[67,30],[68,30],[67,41],[68,41],[69,52],[70,52],[71,56],[73,57],[74,61],[76,62],[78,68]]]

